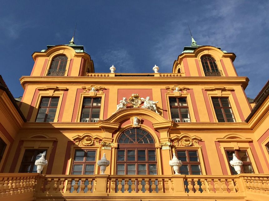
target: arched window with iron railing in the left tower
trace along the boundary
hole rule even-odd
[[[65,55],[55,56],[51,61],[47,76],[64,76],[66,72],[67,57]]]

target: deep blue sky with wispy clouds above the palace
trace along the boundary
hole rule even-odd
[[[0,74],[14,97],[19,78],[33,67],[32,53],[67,44],[77,21],[75,43],[84,45],[95,72],[172,72],[191,44],[234,52],[239,76],[250,79],[254,98],[269,78],[269,1],[1,1]]]

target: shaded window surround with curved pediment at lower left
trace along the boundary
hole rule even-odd
[[[43,136],[44,138],[39,138],[39,136]],[[51,151],[53,148],[53,142],[57,141],[57,138],[50,138],[49,136],[45,134],[37,133],[30,136],[29,138],[21,138],[21,140],[23,141],[23,145],[21,146],[20,154],[17,160],[15,171],[14,171],[15,173],[19,172],[24,152],[27,149],[47,150],[46,160],[48,161],[48,163],[50,162],[49,159],[50,159]],[[42,174],[46,174],[46,171],[47,171],[47,166],[44,167]]]

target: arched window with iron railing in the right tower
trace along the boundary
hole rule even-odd
[[[218,69],[216,59],[212,56],[202,56],[201,61],[205,76],[222,76],[222,72]]]

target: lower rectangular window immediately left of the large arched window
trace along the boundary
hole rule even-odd
[[[72,174],[94,174],[96,150],[76,150]]]

